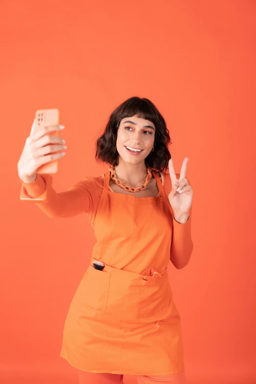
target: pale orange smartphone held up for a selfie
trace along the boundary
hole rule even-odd
[[[35,128],[34,131],[41,129],[42,127],[59,124],[59,110],[57,108],[53,109],[38,109],[35,113]],[[47,133],[51,136],[60,136],[60,131],[52,131]],[[59,143],[51,143],[51,145]],[[47,144],[49,145],[49,144]],[[58,154],[61,151],[52,152],[52,154]],[[55,174],[58,172],[58,159],[53,160],[47,164],[41,165],[37,168],[36,173],[38,174]]]

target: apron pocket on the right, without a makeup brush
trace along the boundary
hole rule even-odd
[[[139,280],[139,318],[164,319],[170,312],[172,291],[168,274],[153,280]]]

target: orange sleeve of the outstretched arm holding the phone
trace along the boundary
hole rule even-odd
[[[31,183],[22,183],[25,201],[33,201],[50,218],[72,217],[91,210],[96,196],[93,177],[86,177],[71,185],[67,191],[57,193],[51,186],[52,176],[37,174]],[[44,199],[42,201],[37,199]]]

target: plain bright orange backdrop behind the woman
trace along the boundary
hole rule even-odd
[[[61,192],[106,170],[95,141],[140,96],[166,119],[176,173],[189,157],[194,250],[169,265],[187,379],[255,383],[256,2],[4,1],[0,18],[0,382],[76,375],[62,331],[96,241],[86,215],[54,220],[20,201],[34,113],[59,108],[66,126]]]

